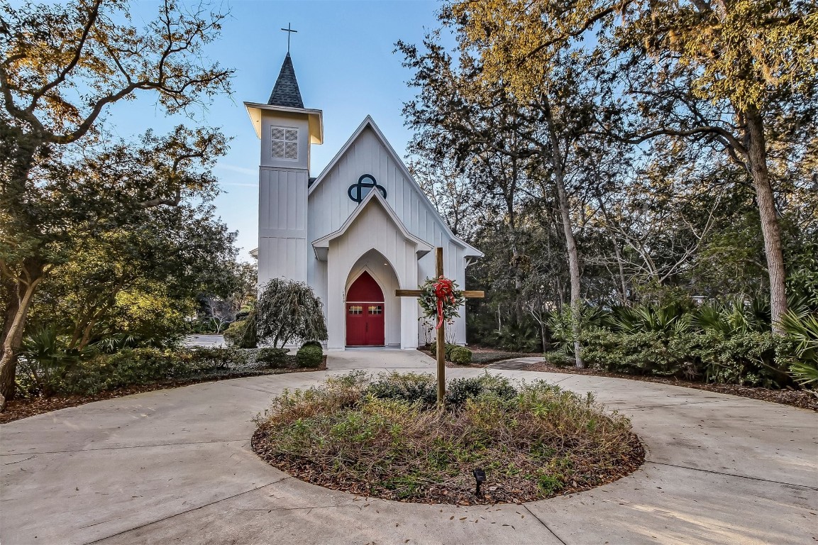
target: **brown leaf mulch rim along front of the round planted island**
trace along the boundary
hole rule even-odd
[[[340,475],[333,475],[324,471],[323,467],[309,460],[271,456],[265,452],[264,432],[262,429],[255,431],[250,444],[255,453],[258,454],[258,457],[261,457],[271,466],[293,475],[297,479],[323,486],[326,489],[353,493],[356,496],[367,499],[381,498],[404,503],[451,503],[459,506],[470,506],[494,505],[497,503],[520,504],[523,502],[535,502],[545,498],[542,490],[537,486],[537,483],[532,479],[526,479],[524,477],[506,478],[500,482],[485,483],[483,484],[479,497],[474,494],[474,481],[470,480],[467,485],[458,486],[456,483],[451,482],[439,484],[437,486],[425,487],[422,495],[415,495],[411,498],[398,498],[395,496],[393,490],[374,486],[371,483],[362,482],[360,480],[344,479]],[[645,463],[645,448],[642,446],[636,434],[631,434],[631,446],[632,450],[630,455],[627,459],[622,460],[614,471],[609,471],[601,475],[591,475],[587,480],[581,483],[573,481],[564,487],[564,489],[561,489],[560,493],[555,495],[563,496],[595,489],[603,484],[609,484],[615,480],[622,479],[622,477],[631,475],[631,473]]]

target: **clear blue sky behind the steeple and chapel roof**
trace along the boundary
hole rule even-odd
[[[402,68],[394,43],[420,43],[437,28],[438,2],[330,1],[266,2],[230,0],[231,15],[222,38],[208,46],[211,59],[236,69],[232,97],[217,97],[199,116],[232,137],[231,150],[214,173],[223,193],[215,201],[218,214],[239,232],[240,259],[256,247],[258,236],[258,138],[243,101],[266,102],[287,51],[281,27],[293,34],[290,54],[304,106],[324,111],[324,144],[312,147],[311,174],[317,175],[346,142],[358,124],[371,115],[395,150],[404,154],[411,132],[403,126],[403,102],[414,96],[406,85],[411,77]],[[133,22],[150,20],[157,3],[135,2]],[[218,7],[218,4],[217,4]],[[117,104],[109,112],[110,125],[122,137],[154,128],[163,133],[175,124],[150,94]]]

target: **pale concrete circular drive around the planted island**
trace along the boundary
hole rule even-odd
[[[0,542],[815,543],[818,417],[753,399],[597,376],[542,378],[631,417],[640,471],[524,505],[427,506],[303,483],[249,448],[285,388],[350,369],[431,371],[419,352],[330,353],[328,372],[160,390],[0,426]],[[478,369],[449,369],[472,376]]]

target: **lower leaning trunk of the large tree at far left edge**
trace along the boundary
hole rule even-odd
[[[0,334],[0,412],[6,409],[6,403],[14,399],[15,376],[17,372],[17,357],[23,343],[25,320],[28,318],[29,307],[34,291],[45,271],[45,263],[38,259],[25,259],[22,263],[20,275],[10,282],[10,297],[6,303],[6,313]]]

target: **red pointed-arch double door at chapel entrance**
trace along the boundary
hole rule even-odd
[[[384,292],[369,272],[347,292],[347,346],[383,346]]]

